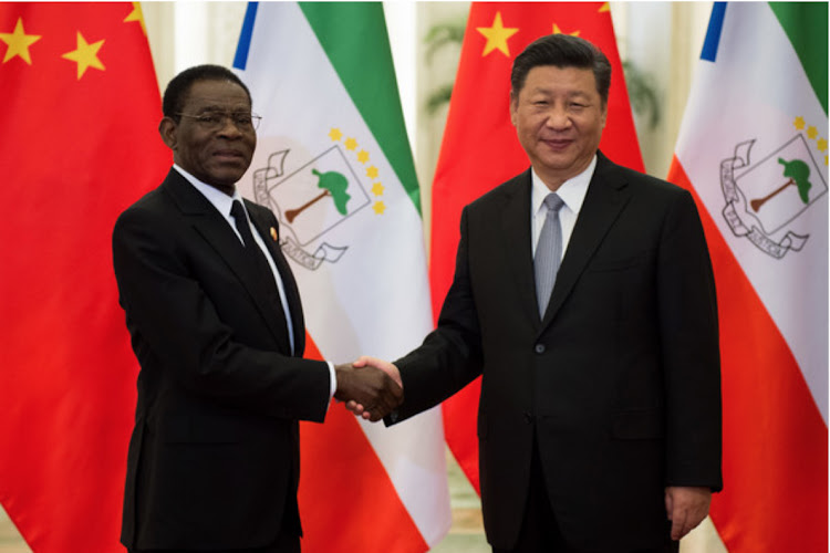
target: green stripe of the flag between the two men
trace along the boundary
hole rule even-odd
[[[300,2],[334,71],[421,213],[381,2]]]

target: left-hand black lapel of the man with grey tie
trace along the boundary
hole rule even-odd
[[[517,176],[506,188],[509,196],[502,211],[504,248],[511,268],[518,303],[525,315],[539,323],[533,276],[533,250],[530,238],[530,170]]]

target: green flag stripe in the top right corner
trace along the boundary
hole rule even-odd
[[[769,7],[790,39],[827,113],[827,2],[769,2]]]

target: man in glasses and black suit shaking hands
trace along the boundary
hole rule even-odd
[[[174,166],[113,232],[141,364],[121,540],[131,552],[297,552],[298,420],[322,421],[332,395],[380,416],[401,389],[375,368],[302,358],[277,219],[235,186],[258,118],[239,77],[184,71],[163,111]]]

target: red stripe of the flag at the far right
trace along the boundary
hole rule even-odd
[[[784,336],[676,157],[670,180],[695,195],[717,285],[724,491],[714,497],[712,519],[730,552],[827,551],[827,426]]]

